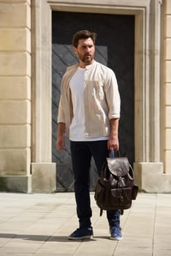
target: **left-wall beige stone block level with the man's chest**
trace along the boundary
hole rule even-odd
[[[0,99],[31,99],[31,78],[0,77]]]

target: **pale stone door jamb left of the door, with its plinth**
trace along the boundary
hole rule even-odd
[[[45,0],[32,3],[32,151],[33,192],[56,189],[52,162],[51,10]]]

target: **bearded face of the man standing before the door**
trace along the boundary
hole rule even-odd
[[[87,39],[80,39],[78,41],[77,48],[74,48],[75,53],[78,56],[78,59],[84,64],[91,64],[94,60],[94,42],[89,37]]]

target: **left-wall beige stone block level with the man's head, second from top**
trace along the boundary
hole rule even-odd
[[[0,29],[1,51],[31,52],[31,31],[29,29]]]

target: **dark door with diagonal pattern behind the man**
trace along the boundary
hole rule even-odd
[[[77,63],[72,51],[72,35],[75,31],[88,29],[97,33],[96,61],[115,72],[121,94],[121,120],[119,140],[121,156],[134,162],[134,16],[106,15],[80,12],[53,12],[52,14],[52,155],[56,162],[57,191],[73,191],[74,178],[66,138],[66,150],[56,151],[58,102],[61,78],[66,67]],[[91,163],[91,190],[94,190],[96,166]]]

